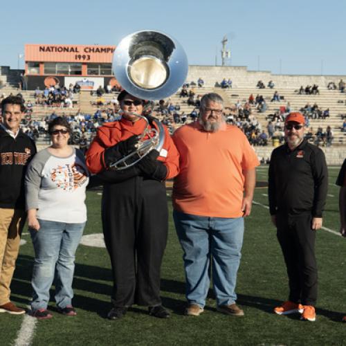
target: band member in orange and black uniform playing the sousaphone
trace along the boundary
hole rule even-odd
[[[98,129],[86,152],[89,170],[104,181],[102,226],[113,271],[113,308],[108,318],[122,318],[132,304],[149,307],[149,315],[168,318],[160,298],[160,271],[167,242],[165,179],[179,172],[179,154],[165,128],[161,152],[149,152],[125,170],[109,166],[136,150],[147,123],[143,100],[122,91],[122,118]],[[154,125],[149,125],[154,126]]]

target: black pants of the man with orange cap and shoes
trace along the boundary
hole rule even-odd
[[[317,265],[316,230],[311,229],[310,214],[277,214],[277,239],[284,254],[289,275],[289,300],[316,305]]]

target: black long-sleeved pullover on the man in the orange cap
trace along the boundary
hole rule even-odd
[[[298,215],[311,212],[322,217],[328,188],[325,154],[316,145],[303,140],[298,147],[287,144],[273,150],[268,174],[271,215],[283,212]]]

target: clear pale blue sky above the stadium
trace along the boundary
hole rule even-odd
[[[228,64],[273,73],[346,75],[343,0],[1,1],[0,65],[16,69],[24,44],[118,44],[159,30],[185,48],[189,64]],[[22,67],[23,60],[19,60]]]

